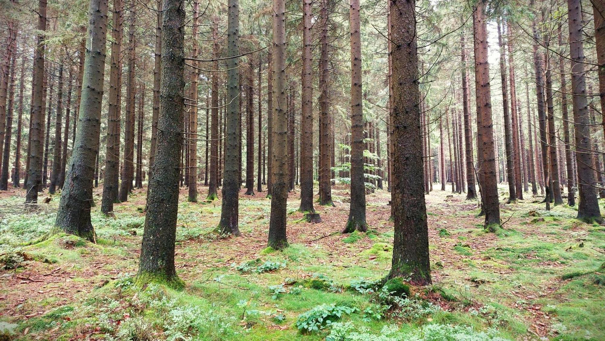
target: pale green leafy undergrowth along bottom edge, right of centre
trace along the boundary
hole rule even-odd
[[[475,331],[470,326],[432,323],[413,331],[403,331],[397,325],[387,325],[379,334],[355,326],[351,321],[332,323],[326,341],[508,341],[497,336],[497,331]]]

